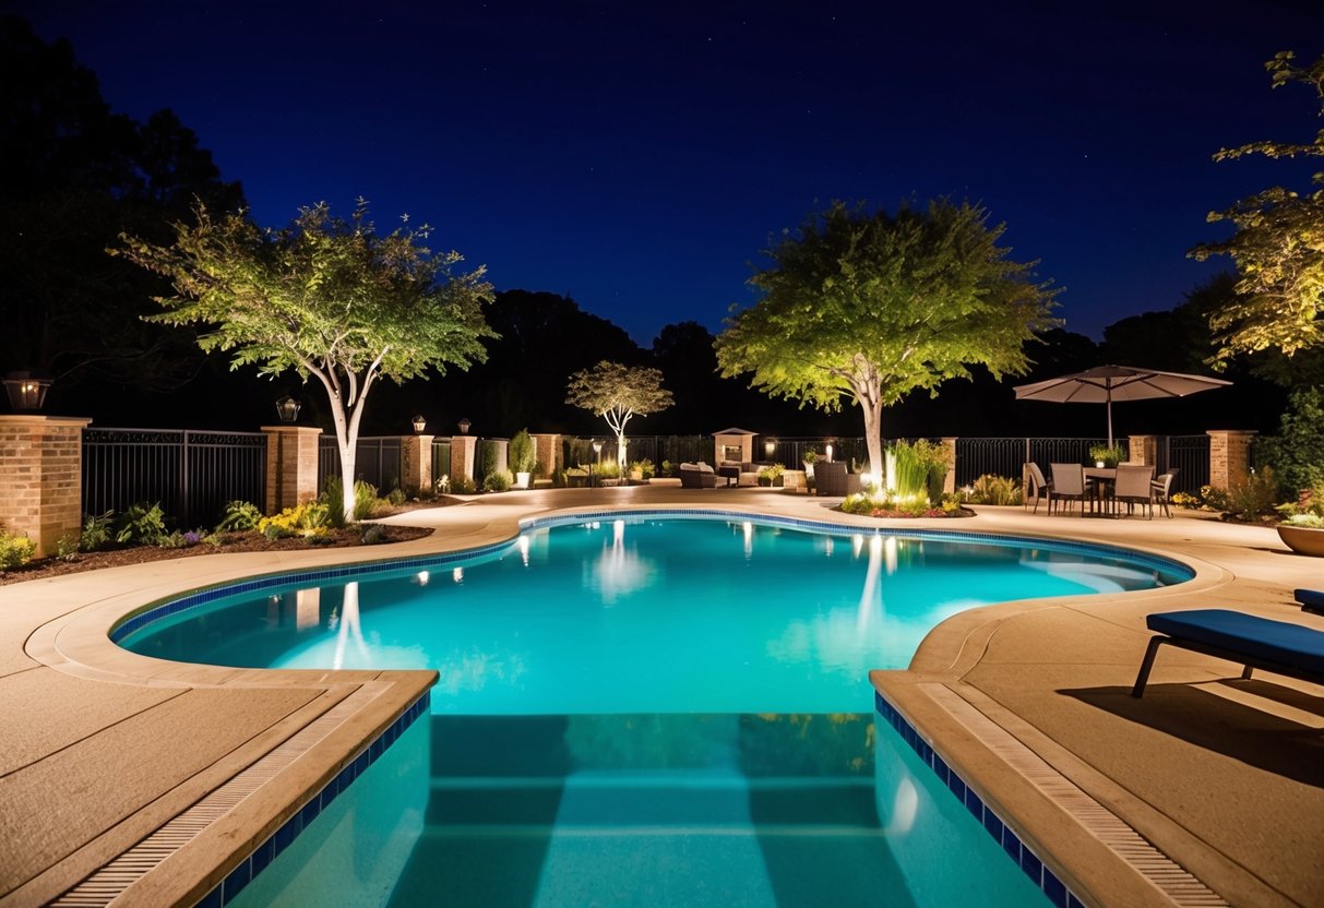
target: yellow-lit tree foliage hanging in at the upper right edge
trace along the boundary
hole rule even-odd
[[[1272,86],[1309,86],[1324,115],[1324,57],[1309,66],[1298,66],[1294,60],[1284,50],[1266,64]],[[1324,130],[1309,143],[1253,142],[1223,148],[1214,160],[1246,155],[1324,158]],[[1237,296],[1210,316],[1218,343],[1214,364],[1226,364],[1237,353],[1276,349],[1291,357],[1324,347],[1324,173],[1315,173],[1312,183],[1317,187],[1313,192],[1272,187],[1209,214],[1211,222],[1230,221],[1237,232],[1222,242],[1196,246],[1190,255],[1200,261],[1231,255],[1239,273]]]

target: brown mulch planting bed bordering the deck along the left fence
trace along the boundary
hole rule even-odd
[[[405,508],[401,508],[405,510]],[[236,552],[287,552],[287,551],[315,551],[322,548],[350,548],[354,545],[381,545],[385,543],[406,543],[430,533],[422,527],[388,527],[381,525],[381,537],[375,543],[363,541],[361,527],[346,527],[344,529],[331,529],[316,544],[310,544],[302,536],[287,539],[266,539],[260,533],[220,533],[220,545],[199,543],[188,548],[163,548],[160,545],[131,545],[127,548],[102,549],[99,552],[78,552],[68,560],[57,557],[34,559],[28,564],[0,570],[0,586],[19,584],[28,580],[44,580],[46,577],[61,577],[64,574],[81,573],[83,570],[99,570],[102,568],[119,568],[128,564],[147,564],[148,561],[167,561],[169,559],[187,559],[195,555],[226,555]]]

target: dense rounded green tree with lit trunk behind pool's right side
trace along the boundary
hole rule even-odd
[[[749,283],[763,299],[716,340],[724,376],[825,410],[858,404],[870,470],[883,465],[883,408],[937,393],[981,364],[1022,373],[1025,343],[1050,328],[1054,293],[1034,263],[1008,258],[1004,226],[978,205],[902,205],[896,214],[834,203],[767,251]]]

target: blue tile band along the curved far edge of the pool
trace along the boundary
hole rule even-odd
[[[1078,543],[1071,540],[1038,539],[1034,536],[1012,536],[1008,533],[974,533],[961,529],[907,529],[904,527],[878,525],[855,527],[833,523],[830,520],[805,520],[802,518],[781,518],[775,515],[748,514],[745,511],[730,511],[722,508],[634,508],[621,511],[576,511],[549,518],[523,518],[519,522],[520,532],[530,529],[545,529],[549,527],[565,527],[587,520],[629,520],[629,519],[690,519],[690,520],[740,520],[757,523],[767,527],[789,527],[792,529],[809,529],[813,532],[826,532],[833,535],[866,535],[866,536],[896,536],[899,539],[923,539],[940,543],[982,543],[985,545],[1008,545],[1014,548],[1037,548],[1053,552],[1067,552],[1072,555],[1092,555],[1095,557],[1125,559],[1127,561],[1153,570],[1164,570],[1185,580],[1196,576],[1196,572],[1181,561],[1151,555],[1136,549],[1117,545],[1104,545],[1102,543]],[[314,570],[291,570],[286,573],[261,574],[240,582],[224,582],[213,586],[204,586],[179,597],[156,600],[138,612],[131,613],[110,630],[110,641],[119,643],[130,634],[134,634],[151,623],[169,618],[201,605],[208,605],[228,596],[240,593],[257,593],[277,586],[294,584],[323,584],[346,577],[371,577],[373,574],[405,572],[405,570],[432,570],[457,561],[471,561],[504,552],[515,545],[515,539],[500,543],[490,543],[477,548],[445,552],[441,555],[426,555],[408,559],[387,559],[381,561],[360,561],[356,564],[343,564]]]

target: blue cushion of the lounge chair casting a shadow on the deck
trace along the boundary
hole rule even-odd
[[[1324,633],[1226,609],[1164,612],[1145,618],[1149,630],[1253,659],[1324,675]]]

